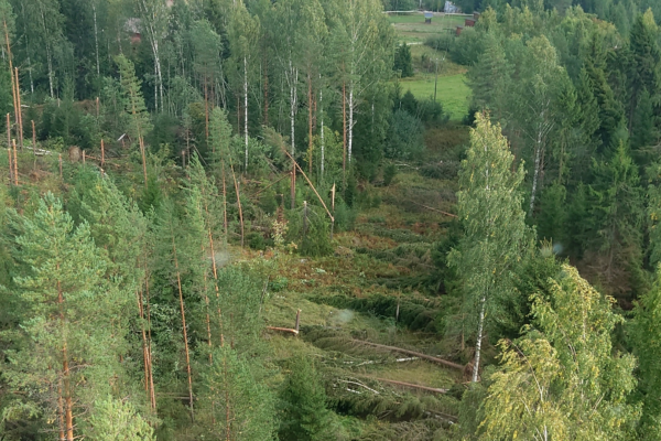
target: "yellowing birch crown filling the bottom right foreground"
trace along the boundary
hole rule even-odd
[[[614,354],[610,334],[622,319],[578,272],[565,266],[551,298],[533,295],[534,324],[502,341],[479,439],[630,439],[638,408],[631,355]]]

